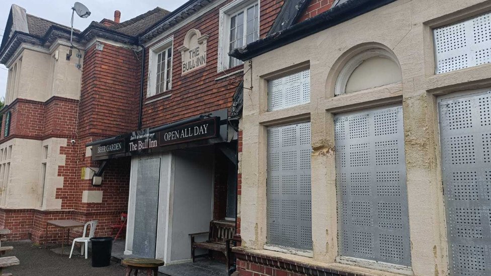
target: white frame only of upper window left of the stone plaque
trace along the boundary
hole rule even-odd
[[[157,61],[158,61],[158,54],[162,53],[163,51],[167,51],[169,48],[172,49],[172,57],[171,57],[171,76],[170,76],[170,79],[171,79],[171,83],[169,85],[169,89],[164,89],[163,92],[161,93],[157,93],[156,91],[156,85],[157,85]],[[166,92],[168,91],[171,91],[172,90],[172,72],[173,72],[173,68],[172,68],[172,64],[173,64],[173,60],[174,60],[174,36],[173,37],[170,37],[160,43],[158,43],[157,45],[153,46],[150,48],[149,50],[149,54],[148,54],[148,84],[147,84],[147,93],[146,93],[146,97],[152,97],[152,96],[155,96],[157,94],[162,94],[162,95],[168,95]],[[167,74],[167,72],[166,72]],[[167,80],[167,76],[166,76],[166,80]]]

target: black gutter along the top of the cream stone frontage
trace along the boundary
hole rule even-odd
[[[397,0],[347,1],[321,13],[320,15],[288,27],[283,31],[268,35],[263,39],[252,42],[246,47],[233,49],[230,53],[228,53],[228,55],[242,61],[246,61],[325,29],[339,25],[395,1]]]

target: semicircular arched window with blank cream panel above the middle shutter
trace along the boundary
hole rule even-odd
[[[343,95],[402,81],[399,62],[383,49],[370,49],[354,56],[341,70],[335,95]]]

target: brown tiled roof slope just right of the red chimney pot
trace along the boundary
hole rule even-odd
[[[133,19],[126,20],[120,24],[109,27],[126,35],[137,36],[152,25],[156,24],[171,12],[162,8],[155,8]]]

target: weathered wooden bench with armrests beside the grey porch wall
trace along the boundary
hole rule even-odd
[[[204,242],[196,242],[195,237],[208,234],[208,240]],[[227,271],[230,268],[230,241],[235,234],[235,222],[232,221],[211,221],[210,231],[189,234],[191,237],[191,261],[194,262],[194,252],[196,248],[207,249],[210,251],[219,251],[225,254]]]

